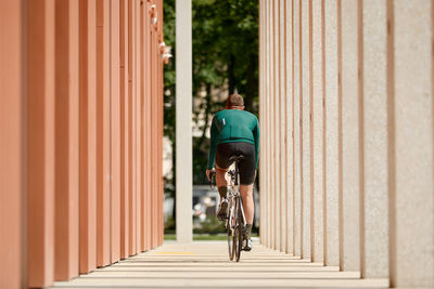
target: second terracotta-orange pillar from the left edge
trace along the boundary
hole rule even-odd
[[[27,11],[27,276],[43,287],[54,273],[54,1]]]

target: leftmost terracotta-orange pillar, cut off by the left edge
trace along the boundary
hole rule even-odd
[[[26,286],[24,1],[0,2],[0,288]]]

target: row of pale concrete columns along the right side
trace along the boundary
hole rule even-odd
[[[434,3],[261,0],[260,236],[434,286]]]

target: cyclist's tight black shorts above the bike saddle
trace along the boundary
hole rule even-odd
[[[221,169],[228,169],[232,163],[229,158],[243,155],[238,169],[240,171],[240,184],[251,185],[255,181],[255,145],[245,142],[224,143],[217,145],[216,163]]]

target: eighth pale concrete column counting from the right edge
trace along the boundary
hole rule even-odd
[[[292,23],[292,1],[284,1],[284,83],[285,83],[285,135],[284,135],[284,144],[285,144],[285,232],[286,232],[286,248],[285,252],[289,254],[294,254],[294,174],[293,174],[293,47],[292,47],[292,35],[293,35],[293,23]]]

